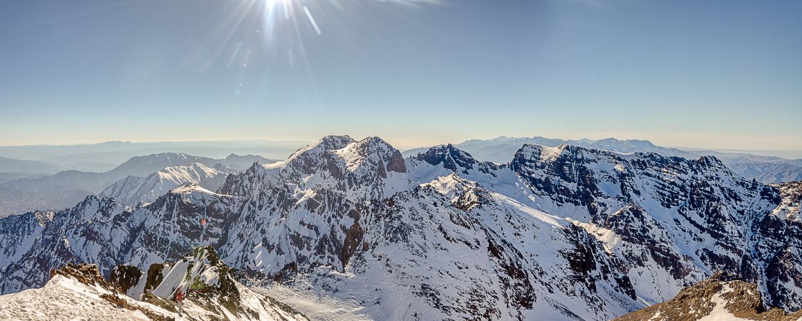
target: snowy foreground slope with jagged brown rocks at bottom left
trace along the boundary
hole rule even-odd
[[[158,269],[148,271],[140,281],[152,288],[137,299],[124,291],[130,294],[134,289],[125,287],[131,286],[147,288],[136,278],[128,279],[141,271],[124,270],[127,272],[120,273],[118,268],[109,281],[99,275],[95,265],[55,270],[42,288],[0,296],[0,319],[309,320],[292,307],[237,282],[210,247],[201,247],[195,255],[172,264],[164,275]],[[186,293],[180,309],[175,299],[179,288]]]

